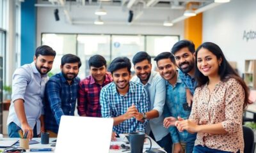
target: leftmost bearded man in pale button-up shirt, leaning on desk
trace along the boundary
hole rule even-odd
[[[19,138],[20,129],[28,132],[30,140],[44,131],[42,98],[55,55],[51,47],[40,46],[36,48],[34,61],[13,73],[12,102],[7,119],[10,138]]]

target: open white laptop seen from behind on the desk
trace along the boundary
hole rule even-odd
[[[55,153],[108,153],[113,119],[61,116]]]

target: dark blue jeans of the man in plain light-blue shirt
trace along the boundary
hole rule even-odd
[[[156,141],[154,135],[152,132],[150,132],[149,135],[153,140]],[[171,135],[168,133],[168,135],[164,136],[161,140],[159,140],[158,142],[156,142],[158,145],[160,145],[160,147],[164,148],[164,150],[167,153],[172,153],[172,137]]]

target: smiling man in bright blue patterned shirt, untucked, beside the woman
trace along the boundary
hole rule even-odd
[[[163,52],[154,59],[157,62],[159,74],[166,80],[166,102],[163,115],[164,127],[168,128],[172,136],[173,153],[193,152],[196,134],[189,134],[187,131],[179,133],[175,126],[166,122],[172,117],[188,119],[191,110],[186,103],[186,88],[180,80],[179,71],[175,64],[175,58],[170,52]]]

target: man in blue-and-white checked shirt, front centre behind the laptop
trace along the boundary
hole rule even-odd
[[[143,85],[130,82],[131,62],[127,57],[117,57],[109,65],[113,82],[100,91],[102,117],[113,118],[112,140],[116,133],[145,131],[146,120],[136,120],[139,113],[148,112],[148,94]]]

